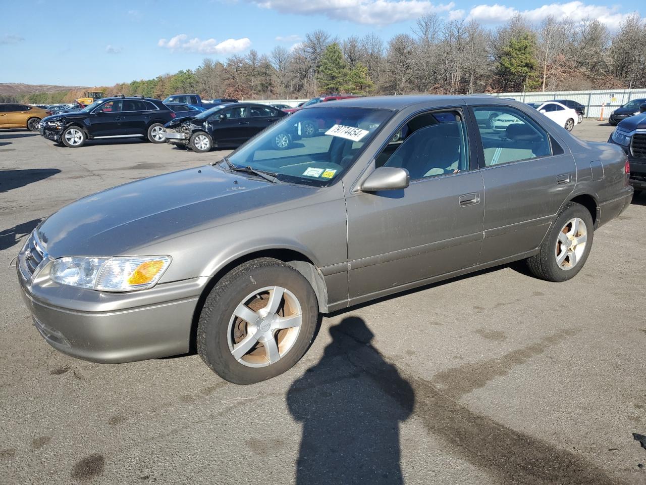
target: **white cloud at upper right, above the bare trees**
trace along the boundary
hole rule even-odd
[[[581,21],[585,17],[598,19],[609,28],[618,28],[630,14],[621,14],[617,7],[587,5],[581,1],[567,3],[550,3],[533,8],[532,10],[517,10],[512,6],[498,5],[477,5],[469,12],[468,20],[477,20],[481,23],[504,23],[515,14],[522,14],[530,22],[540,22],[548,16],[557,19],[569,17],[574,21]]]

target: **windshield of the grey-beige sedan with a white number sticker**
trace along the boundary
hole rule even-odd
[[[276,174],[278,180],[327,186],[357,160],[390,110],[357,107],[317,107],[297,111],[270,125],[228,160]]]

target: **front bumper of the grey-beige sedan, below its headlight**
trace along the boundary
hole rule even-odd
[[[28,280],[16,266],[36,329],[65,354],[121,363],[189,351],[194,312],[206,278],[119,294],[54,283],[47,262]]]

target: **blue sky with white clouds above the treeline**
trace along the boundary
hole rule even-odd
[[[433,12],[490,27],[518,11],[533,22],[549,14],[589,16],[611,29],[632,12],[646,16],[641,0],[118,0],[64,8],[49,0],[0,0],[0,8],[0,82],[87,86],[194,69],[205,57],[224,60],[251,48],[260,54],[291,48],[317,28],[339,38],[375,32],[387,41]]]

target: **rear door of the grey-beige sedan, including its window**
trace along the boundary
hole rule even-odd
[[[478,126],[485,182],[479,263],[537,248],[576,182],[572,155],[528,114],[506,105],[472,107],[476,119],[494,109],[514,122],[503,129]]]

